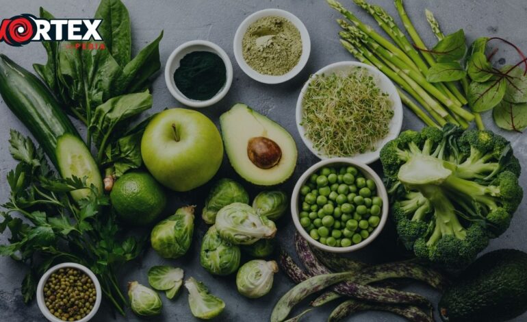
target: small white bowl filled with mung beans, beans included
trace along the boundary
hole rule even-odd
[[[51,322],[86,322],[101,305],[101,284],[90,269],[65,262],[51,267],[38,282],[38,308]]]

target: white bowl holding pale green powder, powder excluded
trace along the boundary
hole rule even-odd
[[[298,29],[298,32],[300,32],[300,38],[302,39],[302,55],[300,55],[300,60],[298,60],[298,64],[296,64],[296,66],[294,66],[291,71],[285,73],[284,75],[273,76],[258,73],[253,68],[251,68],[244,60],[242,40],[244,38],[245,32],[247,31],[248,27],[250,27],[250,25],[252,25],[255,21],[257,21],[259,18],[264,18],[266,16],[279,16],[286,18],[296,27],[296,29]],[[309,39],[309,33],[307,32],[305,25],[302,23],[302,21],[300,21],[297,16],[285,10],[264,9],[257,11],[245,18],[244,21],[242,21],[240,27],[238,27],[238,29],[236,30],[236,34],[234,35],[234,57],[236,58],[236,62],[238,63],[238,65],[240,65],[242,71],[244,71],[244,73],[246,73],[250,78],[255,79],[255,81],[264,84],[279,84],[287,82],[288,80],[298,75],[298,73],[300,73],[300,71],[302,71],[302,69],[304,68],[305,64],[307,64],[307,59],[309,58],[310,52],[311,40]]]

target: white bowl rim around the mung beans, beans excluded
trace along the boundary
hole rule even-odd
[[[77,320],[75,322],[90,321],[90,319],[92,319],[92,317],[94,317],[94,315],[97,313],[97,310],[99,310],[99,306],[101,306],[101,299],[102,299],[101,284],[99,284],[99,280],[97,280],[97,277],[95,276],[95,274],[92,271],[90,271],[88,267],[85,267],[81,264],[77,264],[74,262],[65,262],[62,264],[55,265],[54,267],[51,267],[51,269],[48,269],[47,272],[44,273],[42,277],[40,277],[40,281],[38,282],[38,286],[36,288],[36,301],[38,304],[38,308],[40,309],[40,312],[44,314],[44,317],[48,319],[48,321],[64,322],[63,320],[58,319],[53,314],[51,314],[51,312],[49,312],[49,309],[46,306],[46,301],[44,300],[44,284],[46,284],[49,276],[53,272],[57,271],[57,269],[64,269],[64,267],[73,267],[74,269],[79,269],[80,271],[83,271],[84,273],[86,273],[86,275],[88,275],[88,277],[90,277],[90,279],[92,280],[95,286],[95,293],[97,293],[97,297],[95,298],[95,303],[93,305],[92,310],[90,311],[90,313],[88,313],[88,315],[86,315],[86,317],[83,317],[82,319]]]

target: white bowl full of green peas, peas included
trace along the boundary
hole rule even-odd
[[[370,166],[348,158],[313,164],[291,197],[296,229],[311,245],[348,253],[370,244],[383,230],[388,195]]]

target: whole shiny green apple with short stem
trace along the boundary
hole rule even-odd
[[[223,143],[207,116],[172,108],[154,116],[144,129],[141,156],[158,182],[188,191],[214,177],[222,162]]]

